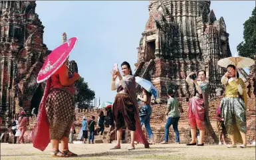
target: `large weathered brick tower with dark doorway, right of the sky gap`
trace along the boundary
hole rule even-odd
[[[211,98],[222,88],[217,60],[231,56],[229,34],[223,17],[217,20],[209,7],[210,1],[150,1],[135,74],[152,80],[162,101],[170,83],[180,97],[190,97],[185,78],[196,70],[206,70]]]

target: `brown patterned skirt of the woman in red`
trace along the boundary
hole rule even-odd
[[[61,140],[68,137],[74,116],[72,94],[63,88],[53,88],[47,96],[46,110],[50,123],[50,139]]]

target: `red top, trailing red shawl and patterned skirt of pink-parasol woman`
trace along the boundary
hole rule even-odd
[[[37,123],[31,133],[33,146],[41,151],[45,150],[50,139],[68,137],[74,117],[74,85],[61,85],[59,74],[58,70],[47,80]]]

